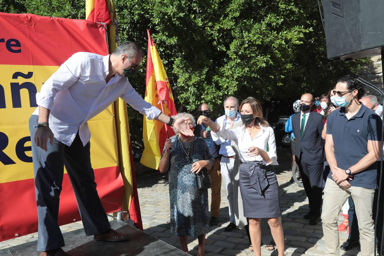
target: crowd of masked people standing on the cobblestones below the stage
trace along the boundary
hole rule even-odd
[[[218,223],[223,180],[229,206],[224,231],[244,228],[249,249],[257,256],[262,243],[268,250],[274,250],[275,243],[278,255],[284,255],[273,129],[253,97],[241,104],[228,97],[223,105],[225,114],[217,119],[211,119],[206,103],[198,107],[197,121],[187,113],[173,117],[189,117],[194,136],[175,129],[177,135],[167,140],[161,159],[161,172],[169,170],[171,232],[179,236],[185,252],[187,235],[197,236],[199,255],[205,255],[205,234]],[[375,239],[381,250],[383,225],[383,197],[376,216],[382,148],[382,107],[377,98],[366,95],[362,84],[347,75],[326,94],[303,94],[293,103],[293,111],[286,132],[291,133],[291,164],[299,167],[309,201],[303,218],[316,225],[321,217],[324,255],[339,255],[340,249],[358,243],[361,255],[374,255]],[[208,190],[196,184],[196,173],[203,168],[211,178],[211,216]],[[338,225],[341,211],[344,221]],[[340,246],[343,231],[349,238]]]

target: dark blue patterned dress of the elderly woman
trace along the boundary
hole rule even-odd
[[[190,171],[193,163],[180,144],[183,143],[188,152],[189,142],[182,142],[178,135],[170,137],[170,141],[170,231],[176,236],[206,234],[209,232],[208,191],[199,190],[196,173]],[[210,159],[215,163],[204,139],[195,138],[190,143],[190,156],[194,162]]]

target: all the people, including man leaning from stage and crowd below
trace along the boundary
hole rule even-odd
[[[275,249],[274,242],[283,256],[275,135],[260,102],[248,97],[239,104],[235,97],[228,97],[225,114],[215,122],[205,103],[199,106],[197,121],[187,113],[169,117],[144,101],[126,79],[136,73],[143,56],[134,42],[121,43],[107,56],[75,53],[36,94],[38,108],[30,117],[29,129],[40,255],[70,256],[62,249],[65,243],[57,222],[64,165],[86,235],[93,235],[95,242],[129,239],[111,228],[98,196],[87,125],[121,97],[148,119],[175,130],[176,135],[166,141],[159,170],[169,172],[171,232],[179,237],[183,251],[188,252],[187,236],[197,236],[199,256],[205,255],[205,234],[220,216],[223,179],[230,222],[224,231],[244,228],[255,255],[261,255],[261,242],[268,250]],[[293,104],[297,113],[287,122],[294,142],[292,161],[298,164],[310,205],[303,218],[315,225],[322,209],[328,256],[338,256],[340,248],[347,250],[356,243],[362,256],[372,256],[375,239],[378,246],[382,240],[383,197],[377,191],[382,107],[374,96],[364,93],[356,79],[342,77],[328,94],[316,98],[303,94]],[[342,208],[346,221],[338,226]],[[347,226],[350,237],[339,246],[338,233]]]

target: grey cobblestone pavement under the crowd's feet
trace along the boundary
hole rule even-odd
[[[286,255],[322,256],[324,255],[324,238],[321,223],[310,226],[307,224],[308,220],[303,219],[303,215],[309,210],[308,199],[303,188],[300,188],[296,183],[289,183],[291,178],[290,161],[290,149],[278,148],[278,162],[280,165],[275,167],[275,170],[280,185],[280,203],[283,211],[281,220],[284,228]],[[144,231],[180,249],[179,239],[170,233],[168,176],[161,176],[157,171],[153,171],[137,177],[137,190]],[[207,234],[205,240],[206,255],[254,255],[248,250],[248,238],[244,230],[235,229],[232,232],[224,232],[224,228],[229,223],[229,215],[226,199],[227,192],[223,185],[221,195],[219,223],[217,226],[210,227]],[[339,221],[342,221],[341,217]],[[79,221],[61,226],[60,229],[64,233],[82,227],[83,225]],[[346,238],[346,232],[340,234],[341,243],[346,241]],[[3,241],[0,242],[0,249],[35,241],[36,239],[37,233],[34,233]],[[197,238],[189,237],[188,241],[190,254],[197,255]],[[357,255],[359,249],[354,248],[347,252],[341,252],[345,253],[341,255]],[[262,255],[277,255],[277,251],[270,252],[262,246]]]

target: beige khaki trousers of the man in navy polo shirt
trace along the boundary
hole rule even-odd
[[[355,203],[356,216],[360,231],[361,256],[372,256],[374,250],[374,222],[372,220],[372,205],[375,190],[371,188],[343,188],[332,179],[327,178],[324,188],[323,233],[325,239],[325,255],[339,256],[338,218],[341,208],[352,196]]]

